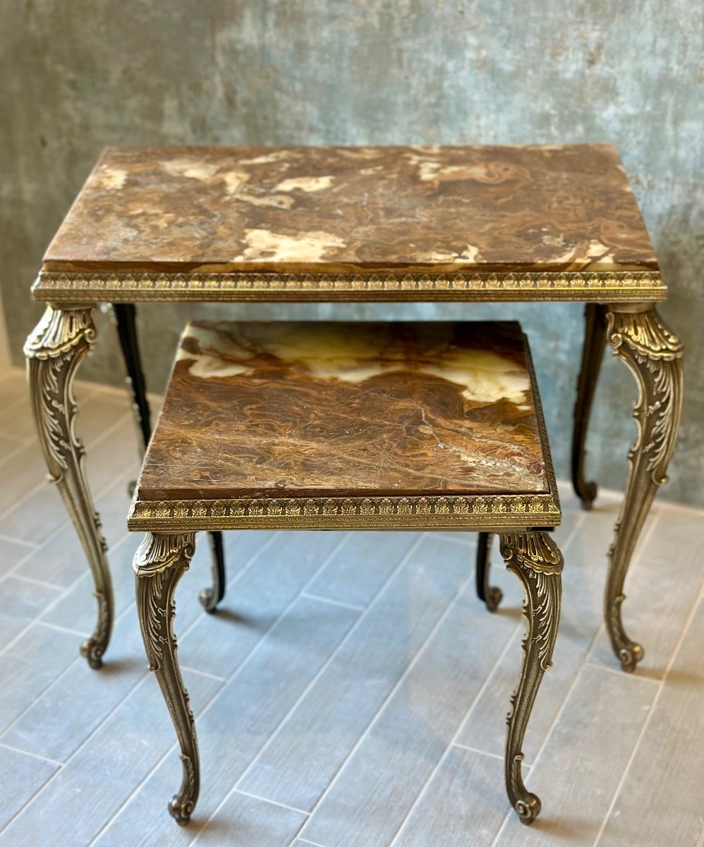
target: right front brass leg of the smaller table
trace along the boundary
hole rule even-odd
[[[551,665],[558,634],[563,568],[562,554],[550,534],[525,532],[501,534],[499,548],[506,567],[515,573],[525,591],[523,612],[528,628],[523,639],[520,682],[511,698],[509,733],[506,739],[506,791],[520,820],[532,823],[541,802],[525,789],[520,772],[523,737],[542,675]]]

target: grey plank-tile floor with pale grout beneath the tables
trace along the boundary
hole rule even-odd
[[[78,657],[91,577],[33,435],[24,374],[0,378],[0,847],[239,844],[458,847],[704,843],[704,514],[657,504],[625,617],[646,646],[621,673],[601,625],[618,502],[564,488],[564,616],[525,741],[532,828],[507,810],[503,733],[520,666],[520,587],[476,601],[470,534],[230,533],[228,595],[206,616],[201,541],[177,594],[201,800],[180,779],[146,670],[125,532],[135,429],[122,393],[79,385],[80,435],[110,546],[107,664]]]

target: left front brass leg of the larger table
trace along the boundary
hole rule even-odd
[[[25,344],[32,410],[49,477],[58,487],[91,565],[98,603],[96,629],[80,651],[100,667],[113,628],[113,584],[106,545],[83,471],[84,450],[74,434],[76,368],[96,339],[91,306],[47,307]]]

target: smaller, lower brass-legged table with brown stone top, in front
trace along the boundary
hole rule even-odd
[[[200,783],[172,626],[195,533],[457,529],[498,533],[525,590],[505,776],[531,823],[541,805],[523,784],[521,745],[557,634],[559,521],[519,324],[190,324],[128,519],[146,531],[137,611],[181,746],[173,817],[190,820]]]

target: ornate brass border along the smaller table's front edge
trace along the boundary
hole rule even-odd
[[[443,529],[554,527],[552,494],[410,497],[261,497],[256,500],[132,501],[128,529]]]

